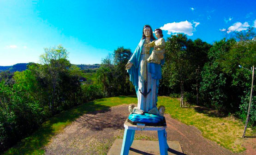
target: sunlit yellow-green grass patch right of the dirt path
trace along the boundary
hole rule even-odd
[[[234,152],[245,150],[242,147],[244,139],[241,138],[244,124],[240,120],[202,107],[180,108],[179,100],[170,97],[160,97],[158,105],[166,106],[166,113],[172,118],[198,128],[205,138]],[[246,136],[256,136],[256,134],[247,128]]]

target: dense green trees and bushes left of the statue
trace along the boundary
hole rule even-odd
[[[49,117],[81,103],[105,97],[93,83],[90,70],[82,71],[67,60],[61,45],[46,48],[42,64],[30,63],[22,72],[0,72],[0,151],[34,132]],[[91,71],[95,74],[95,71]]]

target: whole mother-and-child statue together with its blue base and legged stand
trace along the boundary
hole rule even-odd
[[[130,74],[130,81],[135,87],[138,104],[129,105],[130,115],[125,121],[124,138],[121,155],[128,155],[136,130],[157,131],[161,155],[167,155],[165,107],[156,107],[159,80],[162,78],[161,65],[164,64],[165,41],[162,39],[161,29],[155,29],[145,25],[142,31],[142,39],[131,59],[126,64],[126,70]],[[134,126],[136,125],[136,126]]]

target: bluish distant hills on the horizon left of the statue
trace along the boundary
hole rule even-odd
[[[27,69],[27,65],[29,63],[18,63],[15,64],[13,66],[0,66],[0,72],[2,71],[10,71],[10,72],[16,72],[16,71],[24,71]],[[100,64],[93,64],[93,65],[77,65],[79,68],[81,68],[82,70],[86,70],[86,69],[97,69],[99,68],[101,65]]]

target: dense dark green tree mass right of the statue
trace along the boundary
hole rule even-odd
[[[249,105],[252,72],[256,65],[254,29],[233,34],[233,38],[207,44],[192,41],[183,34],[167,39],[166,63],[162,67],[161,94],[217,109],[245,120]],[[254,38],[254,39],[253,39]],[[250,112],[250,125],[256,125],[256,88]]]

